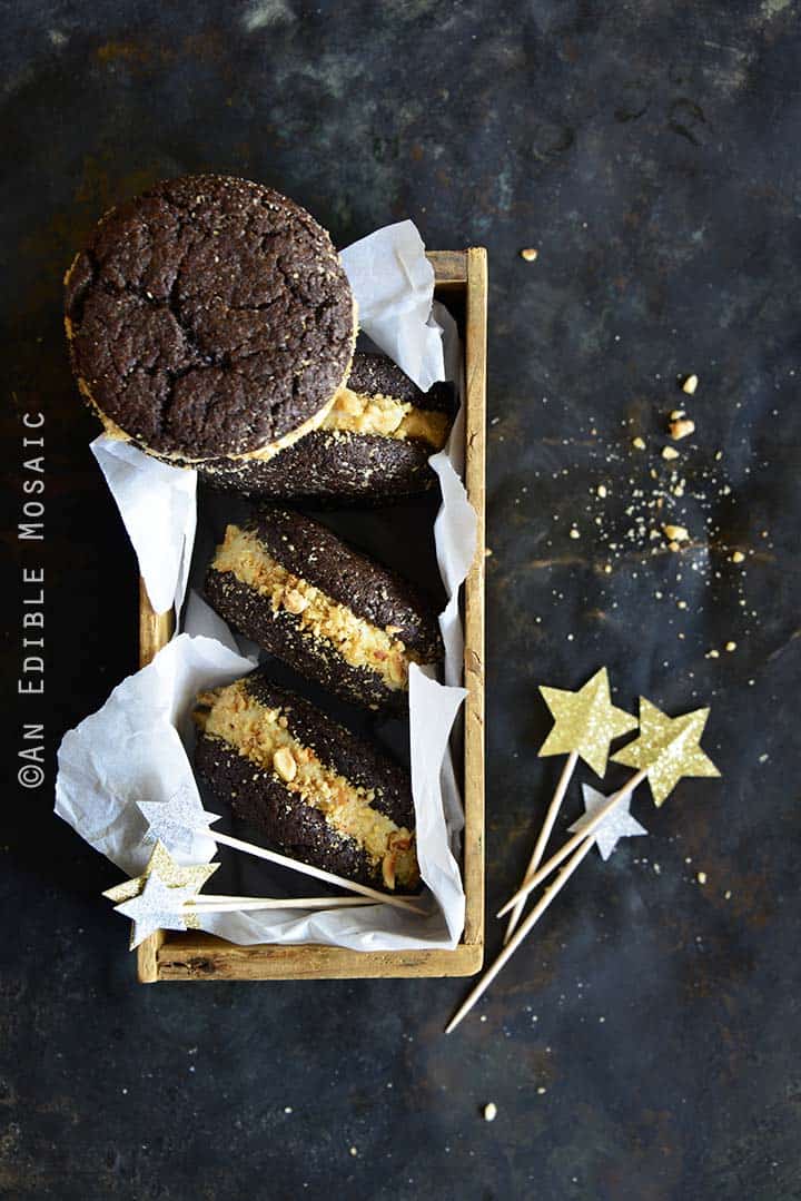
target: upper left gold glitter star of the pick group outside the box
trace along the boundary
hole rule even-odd
[[[596,671],[592,680],[587,680],[578,692],[544,686],[539,691],[555,722],[539,754],[567,754],[575,751],[596,775],[603,776],[606,771],[609,743],[621,734],[636,729],[636,719],[611,703],[606,668]]]

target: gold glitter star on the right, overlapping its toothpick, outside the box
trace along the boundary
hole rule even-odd
[[[668,717],[640,697],[640,735],[612,755],[615,763],[647,769],[654,805],[662,805],[682,776],[719,776],[699,742],[709,709]]]

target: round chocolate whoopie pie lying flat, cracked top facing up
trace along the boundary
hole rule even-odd
[[[339,256],[261,184],[156,184],[106,214],[65,289],[80,392],[107,432],[159,456],[274,454],[322,422],[348,375]]]

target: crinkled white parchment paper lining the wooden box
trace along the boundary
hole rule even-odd
[[[460,395],[461,352],[455,323],[432,304],[434,271],[410,221],[379,229],[342,253],[370,337],[422,388],[453,378]],[[157,611],[180,613],[196,532],[193,471],[169,467],[127,443],[101,437],[92,450],[137,551]],[[411,772],[417,850],[428,885],[429,915],[390,906],[304,914],[301,910],[208,914],[203,928],[234,943],[328,943],[355,950],[454,946],[465,897],[456,862],[461,803],[449,737],[462,704],[462,632],[458,593],[476,550],[476,514],[460,479],[464,420],[432,456],[442,491],[435,525],[437,562],[448,604],[440,617],[446,682],[413,667],[410,675]],[[245,655],[240,651],[245,651]],[[256,656],[197,596],[185,631],[154,662],[114,689],[106,705],[71,730],[59,749],[55,812],[122,871],[138,874],[151,853],[136,802],[185,790],[198,808],[192,773],[190,712],[202,687],[217,687],[252,670]],[[169,848],[173,850],[174,848]],[[215,844],[198,837],[192,861],[208,861]],[[226,854],[234,854],[226,852]],[[183,858],[178,855],[177,858]]]

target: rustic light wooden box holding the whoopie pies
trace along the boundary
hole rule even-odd
[[[484,957],[484,460],[486,426],[486,251],[432,251],[436,295],[461,325],[466,378],[467,495],[478,513],[478,548],[465,582],[465,931],[452,951],[352,951],[339,946],[235,946],[198,931],[159,931],[138,950],[142,982],[301,980],[346,976],[462,976]],[[145,667],[169,640],[172,614],[154,613],[139,585],[139,655]]]

